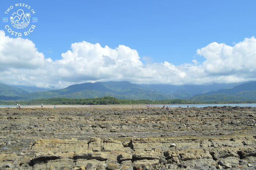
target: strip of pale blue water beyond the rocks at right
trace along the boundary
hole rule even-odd
[[[163,107],[163,105],[155,105],[159,107]],[[165,105],[165,107],[207,107],[207,106],[240,106],[240,107],[245,107],[245,106],[251,106],[251,107],[256,107],[256,103],[239,103],[239,104],[187,104],[187,105]]]

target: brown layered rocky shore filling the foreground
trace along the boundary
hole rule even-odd
[[[0,169],[255,169],[256,107],[0,109]]]

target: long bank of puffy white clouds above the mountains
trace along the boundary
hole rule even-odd
[[[38,52],[29,39],[10,38],[0,30],[0,83],[62,88],[95,81],[206,84],[256,80],[254,37],[233,47],[212,42],[196,52],[205,61],[143,64],[138,52],[127,46],[112,49],[83,41],[71,44],[71,50],[53,61]]]

